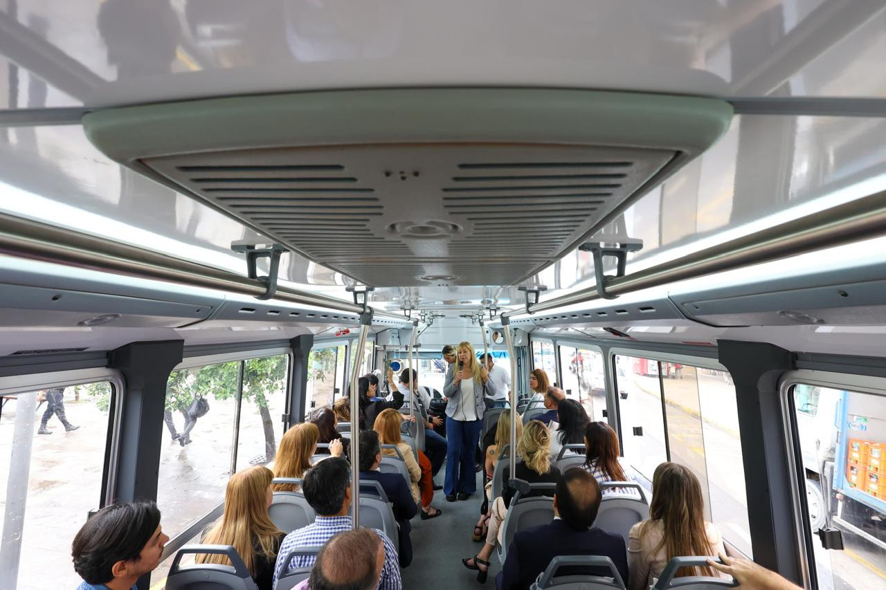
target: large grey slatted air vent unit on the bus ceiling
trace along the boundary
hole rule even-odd
[[[387,89],[123,107],[83,123],[111,158],[360,283],[506,285],[585,241],[731,116],[699,97]]]

